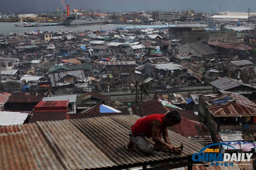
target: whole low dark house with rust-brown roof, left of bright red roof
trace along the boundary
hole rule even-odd
[[[4,105],[5,110],[32,111],[42,101],[43,96],[30,92],[13,92]]]

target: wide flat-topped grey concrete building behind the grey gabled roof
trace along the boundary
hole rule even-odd
[[[188,32],[182,33],[182,44],[206,42],[209,45],[219,43],[237,42],[237,32],[210,31],[210,32]]]

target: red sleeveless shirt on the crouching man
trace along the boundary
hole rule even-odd
[[[147,138],[152,137],[152,127],[150,126],[150,122],[153,120],[158,120],[161,123],[160,129],[162,129],[164,116],[164,114],[151,114],[138,119],[131,128],[133,135],[145,135]]]

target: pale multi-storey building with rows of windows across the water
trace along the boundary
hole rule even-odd
[[[179,12],[152,12],[153,20],[179,20]]]

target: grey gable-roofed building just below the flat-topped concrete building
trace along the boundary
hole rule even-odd
[[[215,55],[219,52],[206,44],[205,42],[197,42],[192,44],[183,44],[176,47],[176,51],[190,52],[191,54],[200,57],[202,59],[209,58],[215,59]]]

